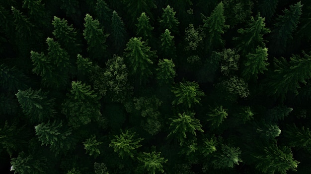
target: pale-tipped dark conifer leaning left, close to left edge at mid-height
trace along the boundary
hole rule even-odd
[[[46,121],[56,113],[53,109],[55,99],[48,99],[48,93],[41,89],[18,90],[15,95],[23,113],[32,123]]]

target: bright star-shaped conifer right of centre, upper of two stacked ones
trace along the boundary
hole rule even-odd
[[[191,108],[194,104],[199,104],[204,92],[199,90],[199,84],[196,82],[179,82],[172,87],[172,93],[175,94],[175,99],[172,105],[187,106]]]

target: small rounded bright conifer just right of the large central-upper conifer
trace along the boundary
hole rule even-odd
[[[156,68],[156,79],[159,84],[168,84],[174,81],[176,76],[175,64],[173,60],[169,59],[159,59],[157,63],[158,68]]]

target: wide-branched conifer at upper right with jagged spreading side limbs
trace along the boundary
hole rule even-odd
[[[255,18],[251,16],[247,27],[237,30],[240,36],[233,38],[233,40],[238,41],[238,51],[244,56],[248,53],[255,53],[258,46],[265,48],[263,35],[271,32],[265,27],[265,18],[261,17],[260,14],[258,14],[256,18],[255,20]]]

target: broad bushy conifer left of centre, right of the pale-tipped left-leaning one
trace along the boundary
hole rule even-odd
[[[68,118],[69,125],[78,128],[88,124],[92,119],[101,117],[99,98],[90,85],[73,81],[70,94],[62,104],[62,112]]]

